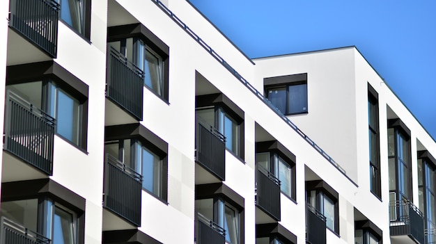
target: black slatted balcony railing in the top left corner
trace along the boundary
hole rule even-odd
[[[9,26],[56,58],[59,3],[53,0],[10,0]]]

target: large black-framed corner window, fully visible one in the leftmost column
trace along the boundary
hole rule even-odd
[[[9,70],[6,88],[54,117],[57,135],[86,150],[88,86],[53,61],[16,65]],[[29,82],[21,77],[22,70],[32,70],[29,77],[40,79]],[[53,73],[45,74],[47,70]]]

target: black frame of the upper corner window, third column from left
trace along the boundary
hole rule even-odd
[[[196,96],[196,110],[203,108],[215,109],[215,124],[210,125],[215,127],[218,131],[219,124],[217,124],[217,122],[219,117],[218,113],[220,113],[220,111],[228,115],[228,117],[231,117],[233,122],[238,125],[238,152],[233,152],[227,147],[226,150],[244,162],[244,111],[222,93]],[[219,132],[221,133],[221,131]]]

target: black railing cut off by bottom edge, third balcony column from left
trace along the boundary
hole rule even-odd
[[[212,220],[198,213],[198,242],[197,244],[224,244],[226,230],[219,227]]]

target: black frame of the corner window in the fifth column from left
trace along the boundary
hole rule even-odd
[[[330,229],[327,226],[326,228],[331,230],[333,233],[339,236],[339,195],[332,188],[332,186],[329,186],[325,181],[322,180],[315,180],[315,181],[306,181],[306,199],[308,200],[310,197],[310,193],[312,190],[316,191],[316,206],[313,206],[318,212],[320,212],[322,215],[324,215],[324,211],[320,209],[320,201],[323,200],[324,196],[327,196],[329,200],[332,200],[334,202],[334,229]],[[307,204],[311,205],[310,202],[307,202]],[[312,205],[311,205],[312,206]]]

